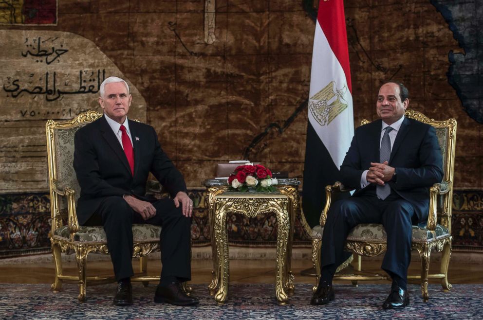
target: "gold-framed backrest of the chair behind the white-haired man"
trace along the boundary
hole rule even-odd
[[[67,201],[65,197],[56,196],[53,189],[74,189],[75,203],[80,196],[80,186],[74,172],[75,132],[101,116],[102,113],[97,111],[87,111],[69,121],[48,120],[45,124],[53,228],[61,226],[59,219],[67,217]]]

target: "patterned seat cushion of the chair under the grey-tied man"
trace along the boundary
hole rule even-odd
[[[312,229],[312,238],[322,239],[323,231],[324,227],[320,225],[315,226]],[[429,242],[448,236],[449,231],[441,225],[436,226],[435,234],[427,230],[426,225],[412,226],[412,242]],[[349,232],[347,240],[384,243],[387,241],[387,234],[381,224],[360,224]]]

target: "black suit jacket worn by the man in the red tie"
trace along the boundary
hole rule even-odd
[[[129,121],[134,149],[134,176],[128,159],[105,116],[77,130],[74,137],[74,170],[81,188],[77,218],[84,224],[108,196],[146,196],[149,172],[174,197],[186,192],[181,173],[161,149],[153,127]]]

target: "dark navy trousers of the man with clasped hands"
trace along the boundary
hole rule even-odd
[[[387,251],[381,268],[402,279],[408,277],[411,261],[412,223],[417,216],[413,206],[395,194],[380,200],[374,193],[353,196],[331,205],[322,234],[321,264],[331,274],[344,262],[344,243],[358,224],[381,223],[387,233]]]

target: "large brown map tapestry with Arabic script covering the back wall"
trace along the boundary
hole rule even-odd
[[[4,3],[28,1],[1,2],[0,13],[5,13]],[[94,91],[104,75],[130,81],[135,117],[156,129],[192,196],[200,193],[201,180],[214,177],[216,164],[227,160],[248,158],[303,179],[317,2],[117,0],[113,6],[111,1],[65,0],[58,3],[56,20],[40,27],[15,26],[0,15],[0,135],[5,137],[0,142],[0,196],[6,206],[1,218],[14,223],[15,199],[35,202],[42,195],[45,200],[45,120],[97,108]],[[471,200],[480,195],[483,96],[477,84],[483,70],[483,0],[344,4],[356,126],[376,117],[382,81],[403,81],[410,108],[434,119],[456,118],[457,196]],[[385,23],[381,17],[404,19]],[[15,218],[24,222],[20,229],[40,214],[35,209],[28,220],[30,209],[25,208]],[[481,211],[478,206],[458,208],[455,248],[480,250]],[[48,221],[42,219],[37,225]],[[200,234],[199,244],[206,243],[202,221],[196,220],[193,229]],[[260,223],[237,221],[230,237],[243,240],[245,231]]]

